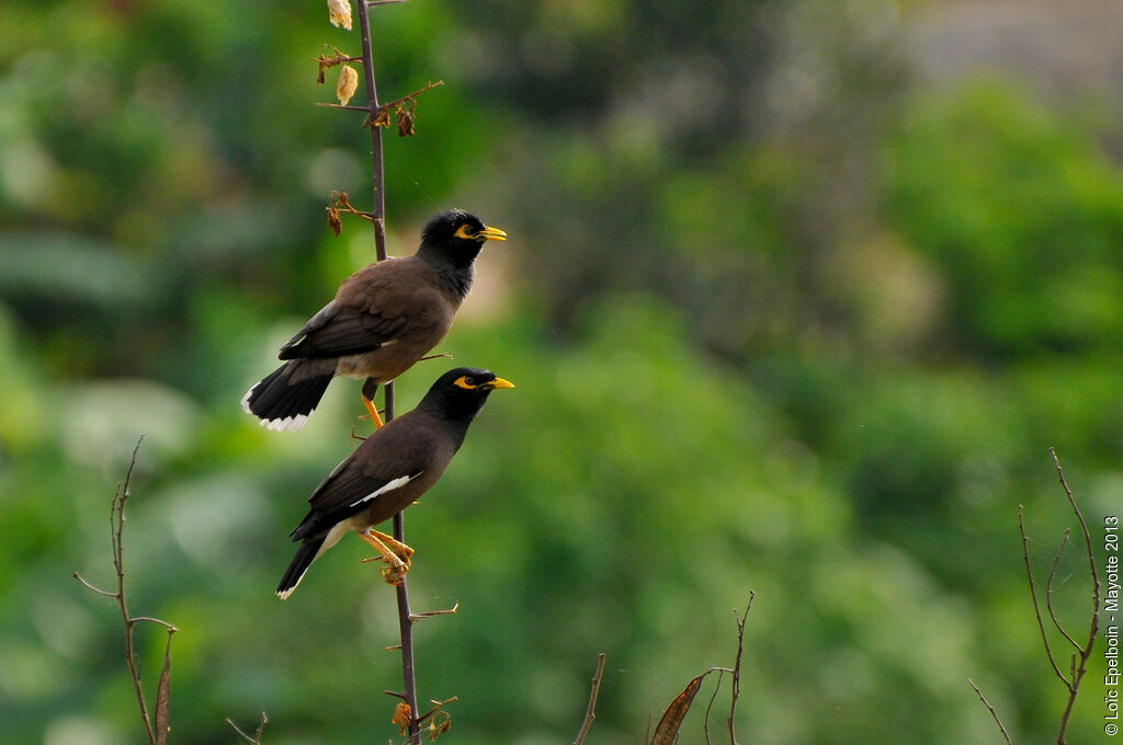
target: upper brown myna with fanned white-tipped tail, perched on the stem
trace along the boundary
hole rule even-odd
[[[363,403],[376,426],[378,385],[424,357],[448,333],[472,287],[485,242],[506,240],[464,210],[432,217],[413,256],[376,261],[347,277],[325,305],[281,347],[284,365],[241,398],[270,430],[304,426],[331,379],[366,378]]]

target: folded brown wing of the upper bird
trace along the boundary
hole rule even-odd
[[[393,342],[424,322],[440,302],[414,257],[372,264],[339,287],[336,298],[281,347],[281,359],[345,357]]]

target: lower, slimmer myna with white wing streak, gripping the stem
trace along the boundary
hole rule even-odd
[[[349,531],[382,555],[386,581],[401,583],[413,549],[374,526],[428,491],[492,390],[513,387],[491,370],[458,367],[437,378],[413,411],[375,430],[309,498],[308,514],[291,533],[300,548],[277,585],[277,596],[287,599],[312,562]]]

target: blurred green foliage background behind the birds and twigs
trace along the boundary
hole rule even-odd
[[[407,517],[448,742],[631,744],[745,638],[741,742],[1056,738],[1043,578],[1123,507],[1123,8],[413,0],[373,12],[391,254],[449,205],[490,245],[440,351],[518,384]],[[318,108],[320,0],[0,9],[0,739],[141,742],[109,505],[137,438],[136,614],[174,623],[172,741],[386,742],[392,590],[287,533],[358,383],[271,433],[238,405],[373,259],[359,114]],[[411,408],[451,364],[400,381]],[[1086,564],[1056,608],[1087,633]],[[1101,567],[1103,565],[1101,555]],[[164,635],[141,633],[155,684]],[[1060,644],[1061,666],[1067,651]],[[1104,659],[1070,743],[1102,742]],[[709,679],[700,701],[709,698]],[[714,725],[728,710],[723,687]],[[724,703],[722,703],[724,701]],[[702,706],[696,708],[701,709]],[[683,743],[704,742],[697,712]]]

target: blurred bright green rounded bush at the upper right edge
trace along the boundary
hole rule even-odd
[[[1079,121],[978,83],[919,102],[887,210],[947,273],[967,353],[1089,351],[1123,334],[1123,176]]]

